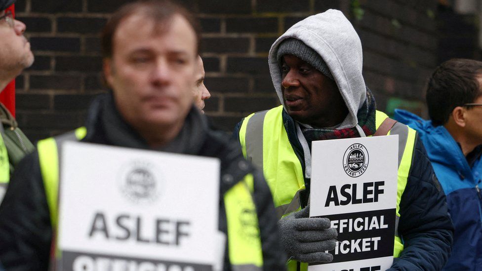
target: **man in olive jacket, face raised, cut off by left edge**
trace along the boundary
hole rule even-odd
[[[0,0],[0,91],[34,62],[30,43],[25,39],[25,24],[5,11],[15,0]],[[20,159],[34,146],[17,127],[17,121],[0,103],[0,202],[10,176]]]

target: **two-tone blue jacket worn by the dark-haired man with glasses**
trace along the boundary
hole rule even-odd
[[[395,111],[395,119],[418,131],[447,197],[455,233],[443,270],[482,271],[481,157],[470,167],[443,126],[403,110]]]

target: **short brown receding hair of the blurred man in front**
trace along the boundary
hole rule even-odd
[[[199,53],[200,43],[200,24],[196,17],[183,6],[174,3],[170,0],[138,0],[135,2],[122,5],[116,12],[114,12],[107,21],[106,26],[101,34],[102,43],[102,57],[111,58],[114,51],[114,35],[122,20],[130,17],[133,14],[142,13],[146,18],[154,20],[155,24],[160,24],[162,31],[168,27],[169,19],[174,15],[181,15],[184,17],[196,34],[196,54]]]

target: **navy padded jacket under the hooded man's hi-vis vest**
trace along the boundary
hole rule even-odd
[[[294,120],[286,111],[283,110],[282,114],[288,140],[300,160],[305,175],[305,156],[296,135]],[[238,142],[243,120],[236,125],[233,132],[233,138]],[[305,178],[305,187],[309,194],[308,178]],[[306,206],[308,196],[302,197],[301,200],[305,200],[302,205]],[[400,257],[394,259],[390,270],[441,270],[450,255],[453,231],[445,194],[417,135],[407,184],[400,201],[398,232],[402,235],[404,249]]]

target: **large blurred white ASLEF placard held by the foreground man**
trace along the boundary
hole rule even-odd
[[[220,266],[220,162],[67,142],[57,270],[210,271]]]

